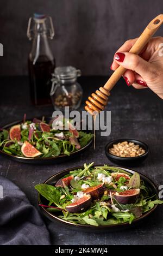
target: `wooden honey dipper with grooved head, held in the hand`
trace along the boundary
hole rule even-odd
[[[143,47],[148,43],[149,39],[155,34],[159,27],[163,23],[163,14],[156,16],[145,28],[140,37],[137,39],[133,47],[131,47],[131,53],[139,54]],[[126,68],[119,66],[115,72],[110,76],[109,80],[103,87],[100,87],[96,93],[92,93],[88,100],[86,100],[85,110],[94,114],[95,112],[100,112],[108,104],[108,97],[110,96],[111,89],[115,86],[117,81],[126,72]]]

